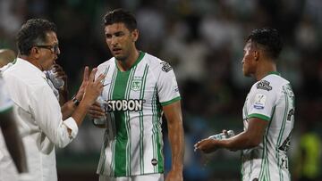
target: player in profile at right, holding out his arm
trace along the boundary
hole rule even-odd
[[[276,29],[255,29],[244,47],[242,71],[257,82],[242,110],[244,131],[224,140],[204,139],[201,152],[242,150],[242,180],[290,180],[286,152],[294,124],[294,94],[290,82],[276,71],[282,41]]]

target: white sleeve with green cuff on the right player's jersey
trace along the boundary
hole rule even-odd
[[[250,89],[248,118],[270,120],[276,102],[276,87],[262,79]]]

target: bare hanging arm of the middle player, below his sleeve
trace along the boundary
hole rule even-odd
[[[181,181],[184,155],[184,135],[182,127],[181,102],[177,101],[163,107],[168,126],[168,136],[172,151],[172,167],[165,180]]]

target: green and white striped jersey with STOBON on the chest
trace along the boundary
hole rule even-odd
[[[97,67],[97,76],[106,73],[102,97],[106,115],[112,120],[97,174],[128,177],[163,173],[162,106],[181,99],[174,70],[143,52],[127,71],[120,71],[115,61],[111,58]]]

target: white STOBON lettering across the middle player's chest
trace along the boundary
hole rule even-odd
[[[141,111],[143,107],[143,100],[109,100],[106,104],[107,111]]]

